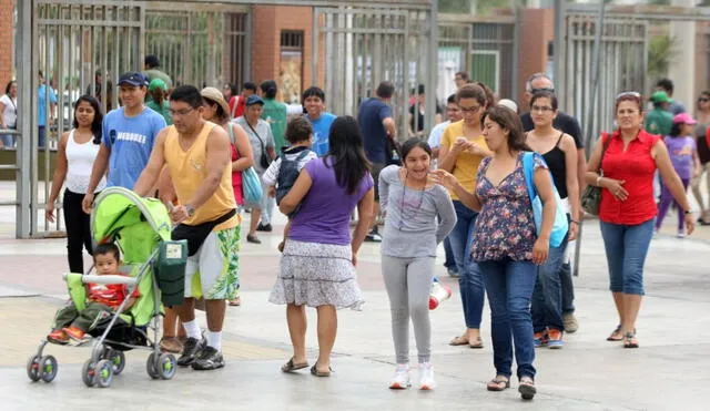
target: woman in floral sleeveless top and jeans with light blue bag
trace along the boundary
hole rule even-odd
[[[535,397],[535,348],[530,299],[537,278],[536,267],[547,260],[549,238],[557,207],[552,179],[540,156],[535,157],[534,184],[542,201],[542,224],[536,234],[532,205],[523,169],[525,144],[520,117],[504,106],[486,110],[481,117],[484,136],[491,157],[481,161],[473,193],[443,171],[434,172],[460,201],[480,212],[474,229],[471,259],[483,271],[490,305],[493,362],[496,377],[489,391],[510,387],[513,348],[518,366],[518,392]]]

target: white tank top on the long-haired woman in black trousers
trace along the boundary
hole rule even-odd
[[[77,194],[87,193],[91,171],[93,169],[93,161],[99,154],[100,144],[93,144],[93,138],[83,144],[74,141],[74,130],[69,132],[67,138],[67,179],[64,184],[67,189]],[[103,189],[106,185],[106,177],[101,177],[94,193]]]

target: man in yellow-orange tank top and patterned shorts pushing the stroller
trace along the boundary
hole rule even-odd
[[[171,95],[174,124],[158,135],[148,166],[133,191],[146,195],[166,165],[179,205],[171,217],[173,239],[187,240],[185,299],[175,307],[187,333],[179,366],[195,370],[224,367],[221,352],[225,300],[239,285],[240,215],[232,193],[230,138],[202,120],[200,91],[182,85]],[[195,321],[195,298],[203,297],[207,314],[206,340]]]

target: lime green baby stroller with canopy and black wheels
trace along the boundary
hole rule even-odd
[[[152,379],[170,380],[174,376],[175,358],[161,353],[156,342],[161,301],[168,306],[179,305],[184,291],[187,245],[184,240],[172,242],[171,229],[168,209],[158,199],[141,198],[121,187],[106,188],[98,196],[91,213],[93,239],[98,244],[114,243],[121,248],[121,271],[125,276],[65,274],[69,295],[81,310],[87,302],[84,285],[88,282],[125,284],[128,292],[115,314],[89,331],[94,338],[93,349],[81,371],[88,387],[111,386],[113,376],[120,374],[125,366],[123,352],[136,348],[151,351],[146,371]],[[124,309],[135,287],[140,297]],[[27,372],[32,381],[51,382],[57,377],[57,359],[42,353],[47,345],[47,339],[42,340],[38,352],[28,361]]]

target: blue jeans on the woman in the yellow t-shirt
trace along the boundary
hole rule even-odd
[[[484,282],[478,264],[470,258],[470,248],[474,243],[474,226],[478,213],[466,207],[462,202],[454,201],[456,210],[456,225],[448,235],[454,251],[454,259],[458,268],[458,288],[462,292],[464,306],[464,320],[466,328],[480,328],[480,317],[484,312]]]

